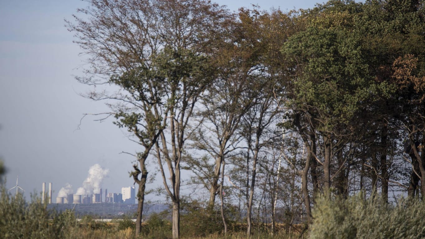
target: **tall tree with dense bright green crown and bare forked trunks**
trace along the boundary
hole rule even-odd
[[[355,3],[330,1],[306,13],[309,24],[283,45],[287,72],[286,97],[292,109],[293,126],[307,147],[303,194],[309,212],[307,171],[319,160],[315,143],[321,142],[323,193],[330,196],[331,162],[341,128],[349,123],[371,91],[371,77],[362,51],[360,36],[352,30]],[[344,132],[346,134],[346,132]]]

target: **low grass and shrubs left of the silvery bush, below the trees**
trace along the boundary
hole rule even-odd
[[[111,222],[99,222],[91,215],[77,220],[75,212],[66,209],[57,212],[48,209],[40,198],[33,197],[30,203],[22,194],[12,196],[2,186],[0,199],[0,235],[3,239],[167,239],[172,238],[170,212],[152,213],[142,223],[142,232],[135,235],[135,222],[127,215]],[[188,211],[182,217],[182,238],[223,238],[221,216],[202,210]],[[302,226],[292,232],[278,225],[274,235],[267,225],[255,225],[255,238],[298,238]],[[227,238],[246,238],[246,224],[229,221]]]

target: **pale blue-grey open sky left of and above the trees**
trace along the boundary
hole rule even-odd
[[[317,0],[216,0],[231,11],[313,8]],[[87,67],[64,19],[72,20],[81,0],[0,0],[0,158],[7,168],[6,188],[18,185],[24,196],[40,194],[42,183],[53,183],[53,202],[67,183],[82,187],[89,168],[99,164],[108,175],[102,188],[121,192],[133,186],[128,172],[137,146],[112,120],[94,121],[108,111],[102,102],[82,97],[89,90],[75,80]],[[121,154],[120,154],[121,153]],[[152,171],[155,167],[152,166]],[[159,180],[156,180],[159,181]],[[152,183],[147,189],[160,186]],[[48,187],[48,186],[46,186]],[[47,189],[46,189],[47,190]],[[13,192],[15,193],[15,191]],[[156,200],[155,195],[148,196]]]

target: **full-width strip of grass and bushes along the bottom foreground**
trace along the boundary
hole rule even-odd
[[[251,238],[258,239],[421,239],[425,237],[425,203],[413,199],[388,205],[378,196],[365,200],[361,194],[348,199],[318,199],[313,210],[314,222],[295,225],[288,231],[277,225],[272,233],[268,225],[255,224]],[[27,203],[21,194],[11,196],[4,187],[0,199],[0,235],[4,239],[168,239],[172,238],[170,212],[153,213],[142,223],[136,236],[135,223],[127,216],[111,222],[97,222],[92,216],[77,220],[71,210],[48,210],[47,204],[34,197]],[[229,232],[223,235],[219,216],[202,210],[182,216],[181,238],[186,239],[243,239],[246,224],[228,222]]]

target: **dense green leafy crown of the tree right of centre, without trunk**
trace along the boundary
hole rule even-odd
[[[317,111],[331,128],[347,122],[368,97],[368,67],[360,41],[347,29],[309,27],[289,38],[282,53],[293,65],[292,102]]]

